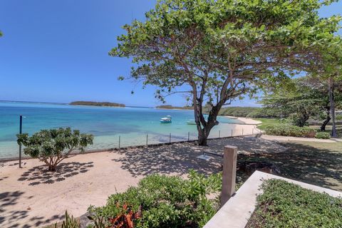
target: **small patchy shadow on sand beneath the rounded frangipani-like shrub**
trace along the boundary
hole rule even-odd
[[[56,167],[56,171],[48,171],[46,165],[39,165],[24,172],[19,181],[29,182],[28,185],[53,184],[68,177],[88,172],[93,162],[65,162]]]

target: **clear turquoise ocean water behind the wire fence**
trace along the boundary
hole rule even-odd
[[[95,106],[73,106],[50,103],[0,102],[0,158],[18,157],[19,115],[24,115],[23,133],[36,133],[41,129],[66,128],[81,130],[95,136],[94,144],[87,150],[120,146],[145,145],[171,140],[197,138],[195,125],[187,125],[193,119],[192,110],[158,110],[155,108],[111,108]],[[172,116],[172,123],[162,124],[160,118]],[[219,117],[219,125],[212,130],[212,138],[232,134],[232,123],[241,123]]]

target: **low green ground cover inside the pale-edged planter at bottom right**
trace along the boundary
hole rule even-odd
[[[342,227],[342,199],[284,180],[265,180],[247,228]]]

